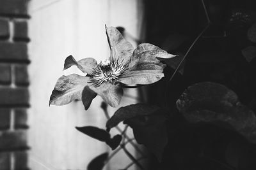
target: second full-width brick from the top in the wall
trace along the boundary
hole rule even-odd
[[[28,60],[26,43],[0,42],[0,60]]]

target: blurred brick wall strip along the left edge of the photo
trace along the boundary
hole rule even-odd
[[[0,0],[0,170],[28,169],[28,0]]]

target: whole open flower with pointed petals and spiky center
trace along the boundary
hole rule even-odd
[[[97,64],[93,58],[76,61],[72,55],[68,56],[64,69],[76,65],[86,76],[61,76],[52,90],[49,104],[64,105],[82,100],[87,110],[93,98],[99,95],[116,107],[124,93],[121,85],[147,85],[161,80],[165,64],[157,58],[176,56],[148,43],[134,50],[115,27],[106,27],[106,34],[111,51],[109,59]]]

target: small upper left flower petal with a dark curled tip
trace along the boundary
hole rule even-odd
[[[64,62],[64,69],[68,69],[71,66],[76,65],[83,73],[90,74],[92,73],[93,67],[97,66],[97,60],[88,57],[76,61],[72,55],[69,55]]]

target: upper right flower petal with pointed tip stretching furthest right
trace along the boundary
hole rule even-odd
[[[136,66],[136,64],[145,63],[145,62],[159,64],[160,61],[157,60],[157,58],[170,59],[175,56],[177,55],[172,55],[162,50],[158,46],[148,44],[148,43],[142,43],[138,45],[138,47],[132,53],[129,67],[131,68]]]

